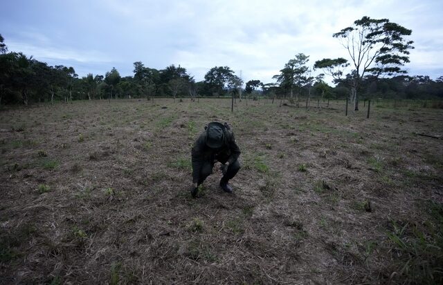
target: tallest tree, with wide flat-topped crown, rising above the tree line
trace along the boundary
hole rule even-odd
[[[406,73],[401,70],[409,62],[409,50],[413,41],[406,41],[412,30],[408,30],[388,19],[362,17],[350,27],[332,35],[340,39],[354,65],[352,76],[352,99],[355,110],[359,110],[357,90],[366,72],[374,77]]]

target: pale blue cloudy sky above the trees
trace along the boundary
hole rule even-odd
[[[273,82],[302,52],[309,63],[345,57],[334,32],[363,16],[412,29],[410,75],[443,75],[442,0],[4,0],[0,34],[10,51],[80,77],[116,67],[133,75],[134,61],[185,67],[197,81],[229,66],[244,81]]]

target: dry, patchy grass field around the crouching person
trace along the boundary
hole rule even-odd
[[[0,111],[0,284],[443,282],[442,109],[183,100]],[[192,199],[216,120],[235,193]]]

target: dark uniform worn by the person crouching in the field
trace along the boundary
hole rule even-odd
[[[227,183],[238,172],[240,165],[238,157],[240,149],[235,142],[234,133],[229,129],[228,125],[224,125],[223,144],[219,148],[210,148],[206,144],[207,132],[201,132],[197,141],[192,147],[192,182],[201,184],[212,173],[215,161],[225,164],[229,161],[228,170],[226,171],[222,181]]]

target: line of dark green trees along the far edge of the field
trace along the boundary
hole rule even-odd
[[[8,52],[0,35],[0,104],[28,105],[30,102],[78,99],[151,97],[243,96],[284,97],[300,102],[300,97],[324,99],[349,97],[355,110],[359,99],[442,99],[443,77],[409,77],[403,69],[409,62],[413,41],[408,30],[388,19],[362,17],[333,35],[347,50],[344,58],[320,59],[309,66],[309,55],[298,53],[290,59],[275,82],[244,81],[228,66],[215,66],[196,82],[181,66],[162,70],[134,62],[134,75],[121,77],[116,68],[105,75],[79,78],[74,68],[48,66],[22,52]],[[313,73],[320,70],[320,74]],[[336,84],[326,83],[329,76]]]

